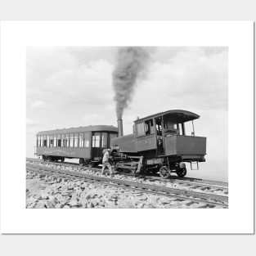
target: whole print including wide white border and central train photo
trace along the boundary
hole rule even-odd
[[[2,232],[253,232],[253,29],[2,22]]]

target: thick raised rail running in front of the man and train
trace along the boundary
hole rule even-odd
[[[51,170],[56,173],[65,173],[65,174],[70,174],[70,171],[63,170],[61,168],[49,168],[47,166],[42,166],[38,164],[26,164],[26,166],[33,167],[36,165],[38,168],[44,168],[46,170]],[[77,177],[83,177],[83,178],[88,178],[88,179],[93,179],[97,181],[105,181],[105,182],[113,182],[119,185],[125,185],[125,186],[130,186],[130,187],[138,187],[141,189],[147,189],[151,191],[160,191],[160,192],[165,192],[168,194],[174,194],[174,195],[186,195],[186,196],[192,196],[194,198],[199,198],[201,200],[214,200],[217,202],[222,202],[222,203],[228,203],[228,197],[226,195],[214,195],[211,193],[205,193],[205,192],[198,192],[198,191],[186,191],[178,188],[172,188],[172,187],[166,187],[166,186],[157,186],[157,185],[151,185],[151,184],[145,184],[145,183],[140,183],[140,182],[132,182],[132,181],[125,181],[125,180],[120,180],[117,178],[113,177],[101,177],[98,175],[92,175],[88,173],[77,173],[74,172],[75,176]]]

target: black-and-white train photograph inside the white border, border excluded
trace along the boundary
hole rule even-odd
[[[227,118],[228,47],[26,47],[26,208],[226,209]]]

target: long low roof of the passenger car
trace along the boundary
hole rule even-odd
[[[90,125],[78,128],[64,128],[64,129],[56,129],[50,131],[42,131],[38,132],[37,136],[42,135],[52,135],[52,134],[64,134],[64,133],[74,133],[74,132],[118,132],[118,128],[112,125]]]

